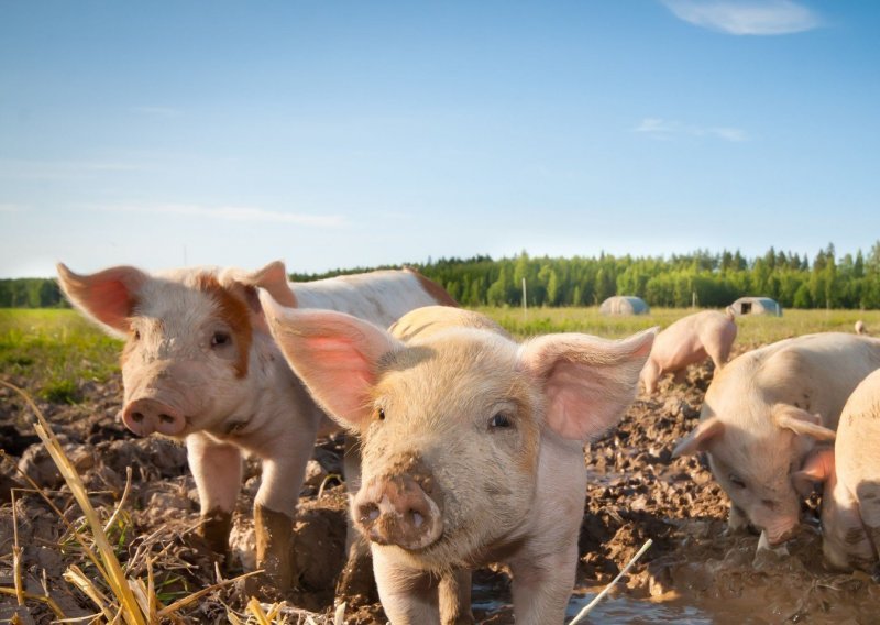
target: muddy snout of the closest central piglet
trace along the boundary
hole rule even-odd
[[[443,533],[437,501],[409,475],[373,480],[358,493],[355,523],[374,542],[424,549]]]

